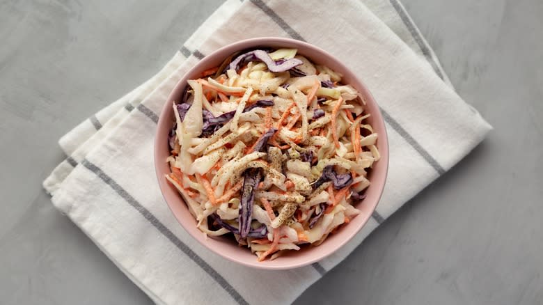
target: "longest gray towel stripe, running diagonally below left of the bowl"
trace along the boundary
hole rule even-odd
[[[95,164],[91,163],[87,159],[84,159],[83,162],[81,162],[83,166],[85,166],[89,171],[92,171],[95,173],[95,175],[98,176],[98,178],[102,179],[113,191],[116,191],[116,193],[121,196],[129,205],[132,205],[134,209],[136,209],[145,219],[147,219],[152,226],[155,226],[157,230],[159,230],[164,237],[166,237],[168,240],[170,240],[173,244],[175,244],[178,249],[180,249],[183,253],[185,253],[191,260],[194,261],[200,268],[202,268],[207,274],[209,274],[219,285],[230,294],[230,296],[235,299],[235,301],[238,304],[249,304],[245,301],[245,299],[242,297],[242,295],[239,295],[239,292],[233,288],[226,279],[224,279],[221,274],[219,274],[213,267],[211,267],[209,264],[205,262],[198,254],[196,254],[192,249],[190,249],[187,244],[184,244],[175,234],[171,232],[162,222],[155,217],[155,215],[151,214],[149,210],[147,210],[143,205],[141,205],[132,195],[128,194],[128,192],[123,189],[120,185],[118,185],[115,180],[113,180],[107,173],[104,173],[102,169],[100,169]]]

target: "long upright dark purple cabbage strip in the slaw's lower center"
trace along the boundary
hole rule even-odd
[[[255,189],[260,182],[260,169],[247,169],[243,173],[242,198],[239,203],[239,235],[247,237],[251,231],[251,219],[253,216],[253,202],[255,201]]]

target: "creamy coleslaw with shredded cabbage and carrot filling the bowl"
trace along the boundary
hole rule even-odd
[[[297,49],[253,49],[188,81],[166,179],[203,233],[274,259],[359,214],[378,135],[341,77]]]

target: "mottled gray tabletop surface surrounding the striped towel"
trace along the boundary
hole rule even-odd
[[[495,130],[295,304],[543,303],[543,1],[404,0]],[[0,303],[150,304],[41,182],[219,1],[0,1]]]

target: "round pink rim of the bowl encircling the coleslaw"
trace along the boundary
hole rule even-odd
[[[302,52],[302,53],[312,53],[312,52],[320,53],[320,54],[322,54],[322,56],[324,56],[326,58],[330,58],[333,61],[333,64],[336,66],[334,70],[338,70],[337,67],[339,66],[340,67],[339,70],[341,70],[341,72],[350,72],[352,77],[354,77],[354,82],[357,83],[357,84],[352,84],[353,81],[349,81],[349,84],[354,86],[357,91],[359,91],[359,92],[363,91],[363,93],[365,95],[365,101],[370,103],[370,104],[375,105],[375,110],[376,111],[372,111],[371,114],[372,114],[373,119],[376,120],[376,122],[372,123],[372,126],[375,127],[375,125],[376,125],[375,123],[377,123],[377,125],[379,125],[379,130],[382,130],[382,132],[379,134],[379,139],[378,139],[379,153],[381,155],[381,158],[377,162],[381,162],[380,166],[382,168],[381,171],[383,172],[381,174],[381,179],[379,179],[379,181],[377,181],[377,182],[379,182],[379,184],[373,185],[374,181],[372,181],[372,186],[374,188],[378,187],[378,189],[377,189],[377,196],[376,196],[376,199],[375,199],[375,203],[373,203],[373,206],[370,209],[371,211],[370,211],[370,213],[368,213],[369,215],[367,217],[365,217],[365,219],[363,219],[363,221],[361,221],[361,223],[358,225],[357,228],[349,228],[349,232],[346,234],[346,236],[343,238],[343,240],[341,240],[338,243],[337,247],[324,247],[324,250],[320,251],[320,252],[322,252],[320,255],[318,255],[318,256],[313,255],[311,258],[308,258],[306,260],[294,260],[294,263],[272,264],[272,265],[269,265],[269,264],[265,263],[266,261],[258,262],[256,260],[255,256],[254,256],[255,259],[252,260],[252,261],[248,261],[248,260],[245,260],[245,259],[240,259],[240,258],[238,258],[236,256],[228,256],[228,255],[225,255],[224,253],[221,253],[221,251],[218,251],[218,249],[215,249],[214,247],[210,247],[210,244],[202,242],[200,240],[201,236],[198,237],[196,235],[196,233],[194,233],[194,230],[191,230],[188,227],[188,226],[194,226],[194,224],[185,224],[184,221],[181,221],[181,219],[178,217],[178,215],[173,210],[173,203],[171,203],[171,201],[168,201],[166,193],[165,193],[166,192],[165,188],[168,187],[168,183],[166,182],[166,179],[164,179],[164,174],[165,173],[164,173],[164,171],[161,171],[161,169],[159,169],[159,165],[158,165],[158,164],[164,163],[164,159],[161,159],[159,157],[159,155],[160,155],[159,151],[163,149],[163,148],[161,148],[161,146],[164,146],[164,143],[162,141],[159,141],[159,139],[161,137],[161,135],[159,133],[162,132],[162,129],[160,128],[160,126],[165,124],[165,122],[164,122],[165,120],[169,120],[167,118],[168,108],[170,108],[170,107],[168,107],[168,105],[171,104],[171,102],[173,102],[173,100],[175,99],[175,92],[178,91],[178,88],[179,87],[184,88],[184,86],[187,86],[187,80],[189,79],[189,75],[194,74],[194,72],[204,70],[206,65],[209,65],[210,63],[212,63],[212,61],[214,61],[214,57],[216,57],[218,54],[224,53],[224,54],[226,54],[226,56],[228,56],[228,54],[233,54],[234,52],[241,51],[243,49],[248,49],[248,48],[253,48],[253,47],[266,47],[270,43],[272,43],[273,45],[285,45],[285,47],[287,47],[288,45],[295,46],[295,47],[298,47],[298,48],[301,47],[301,48],[303,48],[303,49],[305,49],[307,51],[307,52]],[[226,56],[224,56],[224,57],[226,57]],[[307,54],[307,57],[310,58],[310,60],[313,61],[310,54]],[[360,86],[358,86],[358,85],[360,85]],[[168,123],[171,123],[171,122],[168,122]],[[196,240],[198,243],[202,244],[203,247],[205,247],[206,249],[211,250],[213,253],[216,253],[219,256],[223,257],[223,258],[226,258],[227,260],[233,261],[235,263],[239,263],[239,264],[247,266],[247,267],[253,267],[253,268],[256,268],[256,269],[271,269],[271,270],[294,269],[294,268],[297,268],[297,267],[304,267],[304,266],[316,263],[316,262],[326,258],[327,256],[330,256],[332,253],[338,251],[343,246],[345,246],[345,244],[347,244],[347,242],[352,240],[352,238],[357,233],[359,233],[364,226],[366,226],[368,224],[369,219],[372,217],[372,213],[375,212],[375,209],[377,208],[377,205],[379,204],[379,201],[381,200],[381,196],[383,194],[383,190],[384,190],[384,187],[386,185],[386,177],[388,175],[388,165],[389,165],[388,164],[388,161],[389,161],[389,159],[388,159],[389,158],[389,143],[388,143],[388,134],[387,134],[387,131],[386,131],[386,125],[384,123],[384,117],[381,114],[381,109],[379,107],[379,104],[377,104],[377,102],[375,101],[375,98],[370,93],[370,91],[368,89],[368,86],[366,86],[363,83],[363,81],[361,81],[361,79],[359,77],[357,77],[356,74],[354,72],[352,72],[347,67],[347,65],[345,65],[342,61],[340,61],[338,58],[336,58],[336,56],[333,56],[329,52],[326,52],[324,49],[321,49],[320,47],[317,47],[315,45],[311,45],[308,42],[304,42],[304,41],[301,41],[301,40],[294,40],[294,39],[291,39],[291,38],[279,38],[279,37],[259,37],[259,38],[249,38],[249,39],[245,39],[245,40],[238,40],[237,42],[233,42],[233,43],[230,43],[230,44],[225,45],[223,47],[220,47],[219,49],[216,49],[214,52],[210,53],[209,55],[205,56],[200,61],[198,61],[198,63],[196,63],[192,68],[187,70],[187,72],[184,73],[184,75],[182,75],[180,80],[172,88],[171,93],[169,93],[166,101],[164,102],[164,106],[162,106],[162,110],[160,111],[160,114],[159,114],[159,120],[157,122],[157,130],[155,132],[155,141],[154,141],[153,152],[154,152],[153,158],[154,158],[154,162],[155,162],[155,164],[154,164],[155,165],[155,174],[157,176],[157,180],[158,180],[158,183],[159,183],[160,192],[161,192],[161,194],[162,194],[162,196],[164,198],[164,201],[166,201],[166,204],[168,205],[168,208],[171,210],[171,213],[173,214],[175,219],[178,221],[178,223],[182,226],[182,228],[184,228],[184,230],[187,231],[187,233],[189,233],[189,235],[191,235],[191,237],[194,238],[194,240]],[[177,190],[175,190],[175,192],[177,192]],[[184,208],[186,208],[187,212],[188,212],[187,203],[184,202],[182,196],[178,196],[178,198],[179,198],[180,202],[183,203]],[[357,215],[356,217],[361,217],[361,216],[362,215]],[[351,225],[354,225],[354,224],[351,224]],[[201,234],[203,234],[203,233],[201,233]],[[209,237],[209,238],[212,238],[212,237]],[[326,240],[324,242],[326,242]],[[242,249],[242,248],[240,248],[240,249]],[[249,251],[249,249],[244,249],[243,251]],[[280,260],[280,259],[281,258],[278,258],[277,260]],[[269,261],[269,260],[267,260],[267,261]]]

